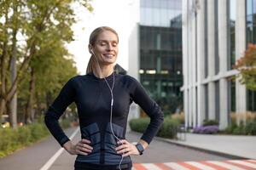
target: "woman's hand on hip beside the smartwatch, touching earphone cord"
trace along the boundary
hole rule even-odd
[[[121,144],[122,143],[122,144]],[[127,140],[123,139],[118,141],[119,145],[115,148],[118,154],[122,154],[123,157],[130,156],[130,155],[140,155],[137,147],[134,144],[129,143]]]

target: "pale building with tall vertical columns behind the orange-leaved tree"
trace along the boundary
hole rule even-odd
[[[256,111],[256,93],[232,77],[247,44],[256,43],[256,0],[183,0],[183,107],[187,127]],[[244,119],[244,117],[242,117]]]

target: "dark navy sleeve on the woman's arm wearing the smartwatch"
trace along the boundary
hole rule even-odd
[[[160,106],[148,96],[143,86],[136,79],[133,82],[132,99],[150,117],[148,127],[141,138],[149,144],[159,131],[162,122],[164,122],[164,114]]]

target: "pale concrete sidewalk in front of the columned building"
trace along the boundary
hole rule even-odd
[[[155,138],[220,156],[256,160],[256,136],[186,133],[184,139],[184,133],[179,133],[178,137],[177,140]]]

